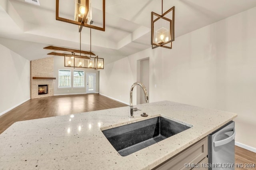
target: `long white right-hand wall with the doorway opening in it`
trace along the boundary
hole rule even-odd
[[[238,113],[236,141],[256,148],[255,16],[256,7],[176,38],[173,49],[150,48],[106,65],[100,93],[128,103],[136,62],[150,57],[150,102]]]

